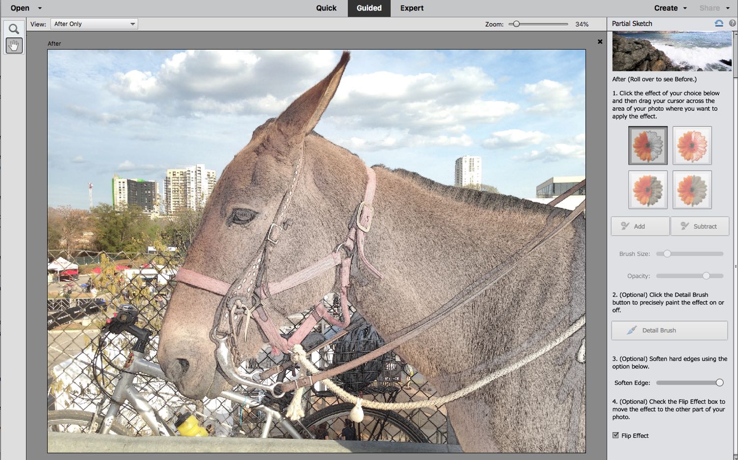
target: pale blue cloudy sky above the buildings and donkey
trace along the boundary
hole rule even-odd
[[[49,50],[49,206],[111,203],[113,174],[220,177],[255,128],[328,75],[339,50]],[[315,131],[367,164],[453,185],[455,159],[533,198],[584,174],[584,50],[356,50]]]

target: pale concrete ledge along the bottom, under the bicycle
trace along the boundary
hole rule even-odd
[[[49,453],[460,453],[458,445],[414,442],[320,441],[317,439],[190,438],[47,433]]]

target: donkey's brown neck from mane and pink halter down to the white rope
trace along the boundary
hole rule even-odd
[[[376,213],[366,253],[384,279],[356,293],[359,311],[384,337],[435,312],[551,226],[551,211],[523,209],[522,203],[482,209],[375,169]],[[573,250],[561,240],[570,241],[572,234],[562,231],[475,301],[401,346],[401,357],[436,388],[450,391],[465,379],[448,386],[439,377],[514,355],[551,332],[569,316]]]

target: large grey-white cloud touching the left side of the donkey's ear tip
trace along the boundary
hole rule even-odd
[[[276,114],[325,77],[332,51],[190,49],[157,72],[117,72],[108,88],[128,100],[156,103],[176,116]]]

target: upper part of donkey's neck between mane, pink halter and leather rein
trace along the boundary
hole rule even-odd
[[[377,168],[377,176],[376,214],[366,251],[387,272],[382,291],[411,302],[421,315],[506,261],[547,225],[547,213],[522,205],[483,209],[384,168]],[[399,317],[396,329],[412,323],[410,316]]]

